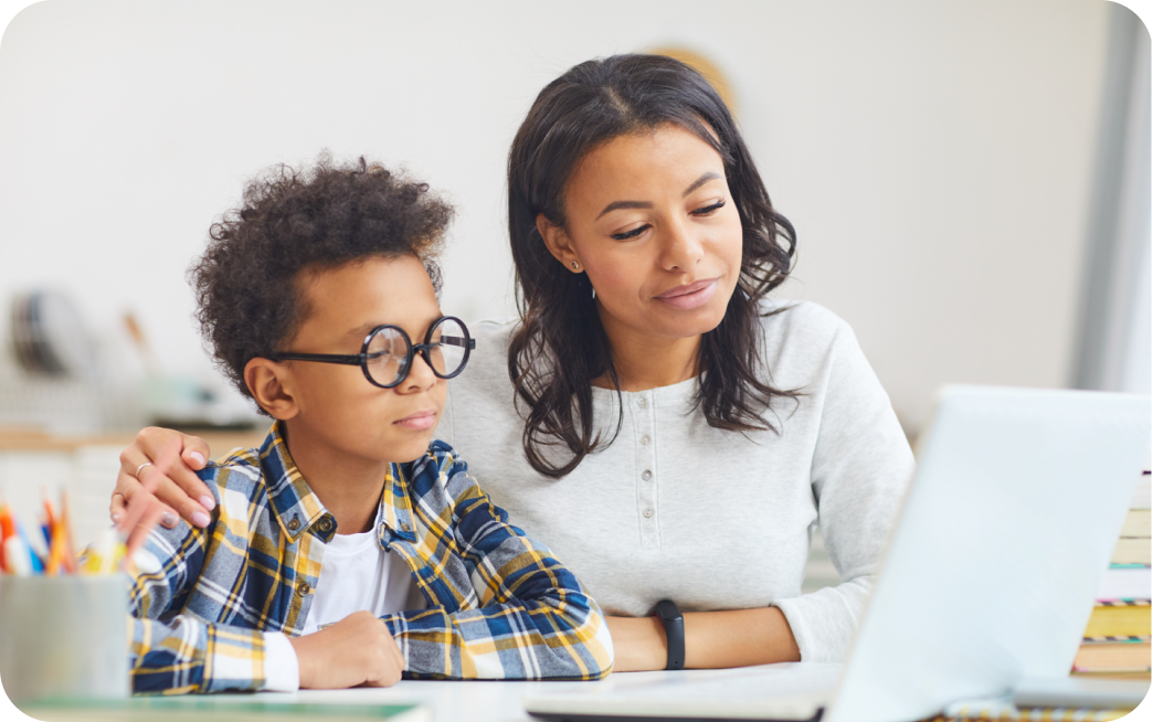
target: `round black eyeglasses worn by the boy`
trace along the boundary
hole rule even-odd
[[[404,329],[386,324],[372,329],[364,337],[364,345],[355,356],[330,353],[278,353],[272,355],[272,360],[359,366],[370,384],[392,389],[408,377],[413,359],[417,353],[424,356],[424,361],[437,377],[452,378],[465,370],[468,354],[474,348],[476,341],[468,336],[465,322],[453,316],[445,316],[432,324],[424,334],[423,344],[413,344]]]

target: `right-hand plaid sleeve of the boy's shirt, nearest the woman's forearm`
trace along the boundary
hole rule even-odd
[[[510,524],[464,462],[443,459],[452,498],[453,547],[442,564],[429,546],[410,563],[440,570],[417,578],[442,607],[385,616],[410,677],[598,679],[612,669],[612,640],[600,608],[543,544]],[[420,509],[420,505],[416,505]],[[514,650],[514,654],[508,654]]]

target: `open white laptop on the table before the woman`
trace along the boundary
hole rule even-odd
[[[947,386],[844,664],[612,675],[525,709],[550,722],[892,722],[1023,685],[1060,698],[1084,684],[1069,671],[1148,464],[1151,408],[1138,394]]]

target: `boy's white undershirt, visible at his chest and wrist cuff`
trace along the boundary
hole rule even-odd
[[[336,534],[324,546],[321,574],[312,606],[304,619],[303,634],[311,634],[356,611],[376,617],[424,609],[428,601],[413,584],[408,564],[380,546],[380,514],[368,532]],[[280,632],[265,635],[266,690],[292,692],[300,689],[300,662],[288,638]]]

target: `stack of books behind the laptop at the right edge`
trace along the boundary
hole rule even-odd
[[[1133,495],[1073,675],[1153,678],[1153,488],[1146,469]]]

